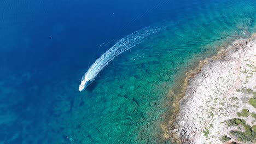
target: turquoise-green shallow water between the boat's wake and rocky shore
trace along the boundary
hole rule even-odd
[[[217,4],[197,10],[194,17],[162,24],[167,27],[160,34],[115,58],[75,96],[72,112],[67,113],[71,104],[62,97],[56,109],[63,113],[54,125],[80,143],[170,143],[163,140],[160,124],[171,117],[165,114],[171,109],[168,92],[179,82],[176,77],[255,31],[255,5]]]

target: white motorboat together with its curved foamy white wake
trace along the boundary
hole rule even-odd
[[[116,56],[120,53],[131,49],[133,46],[141,43],[149,35],[155,34],[160,31],[160,28],[143,28],[139,31],[133,32],[127,35],[123,39],[120,39],[113,45],[107,52],[98,58],[94,64],[88,69],[85,75],[82,77],[79,91],[83,91],[96,77],[98,73]]]

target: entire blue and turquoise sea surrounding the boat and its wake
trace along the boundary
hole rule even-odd
[[[0,143],[172,143],[182,77],[256,32],[256,1],[0,1]],[[163,28],[80,79],[115,41]],[[100,46],[102,45],[102,46]]]

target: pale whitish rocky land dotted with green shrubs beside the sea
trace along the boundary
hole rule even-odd
[[[207,59],[171,129],[179,143],[256,143],[256,34]]]

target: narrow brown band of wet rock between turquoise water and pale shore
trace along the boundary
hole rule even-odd
[[[242,38],[240,38],[242,39]],[[191,66],[190,68],[188,68],[187,70],[184,71],[184,76],[179,75],[176,78],[176,85],[169,89],[168,93],[167,93],[167,97],[172,97],[173,98],[173,102],[172,103],[168,103],[171,104],[170,110],[168,110],[166,113],[163,114],[162,117],[165,118],[164,123],[160,124],[160,127],[163,131],[163,135],[162,138],[163,139],[171,139],[172,142],[179,142],[179,138],[177,137],[177,135],[174,135],[174,133],[176,131],[173,131],[174,128],[174,123],[176,121],[176,118],[180,112],[180,104],[181,101],[183,100],[183,98],[185,97],[186,93],[187,93],[187,88],[190,85],[190,81],[194,79],[195,75],[201,73],[201,69],[203,67],[205,67],[205,65],[207,65],[210,62],[213,61],[217,61],[218,59],[221,59],[223,57],[225,57],[228,53],[228,51],[230,51],[229,49],[227,49],[229,46],[232,45],[232,43],[234,43],[235,41],[237,41],[239,39],[232,39],[231,41],[225,41],[228,43],[223,43],[222,45],[216,47],[217,52],[216,54],[213,54],[212,56],[208,57],[208,58],[204,58],[201,59],[199,61],[196,61],[194,63],[194,66]],[[166,105],[168,105],[166,104]]]

